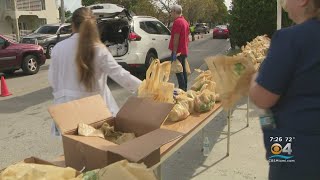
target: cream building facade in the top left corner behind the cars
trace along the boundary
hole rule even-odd
[[[0,34],[23,36],[43,24],[59,22],[55,0],[0,0]],[[18,33],[17,33],[18,31]]]

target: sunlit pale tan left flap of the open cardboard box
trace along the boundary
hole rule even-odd
[[[49,113],[63,134],[79,123],[92,124],[112,117],[100,95],[51,106]]]

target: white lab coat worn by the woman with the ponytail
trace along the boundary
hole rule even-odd
[[[76,65],[76,53],[79,34],[75,33],[70,38],[58,43],[52,50],[49,67],[49,84],[53,88],[54,104],[65,103],[83,97],[100,94],[109,110],[115,116],[119,107],[107,85],[110,76],[122,87],[134,93],[141,81],[123,69],[113,58],[108,49],[103,45],[96,45],[94,60],[96,87],[93,92],[87,92],[85,86],[79,83]],[[55,126],[52,133],[57,135]]]

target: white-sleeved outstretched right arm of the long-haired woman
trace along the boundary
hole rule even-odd
[[[119,65],[105,47],[101,47],[99,51],[97,59],[99,60],[102,71],[107,73],[111,79],[123,88],[133,93],[136,92],[141,84],[141,80],[131,75],[130,72]]]

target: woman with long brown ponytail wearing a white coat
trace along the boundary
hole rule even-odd
[[[96,19],[89,8],[81,7],[73,13],[72,29],[74,34],[52,50],[49,83],[54,103],[100,94],[116,115],[119,108],[107,85],[108,76],[131,92],[141,81],[123,69],[100,42]],[[55,126],[52,131],[59,135]]]

